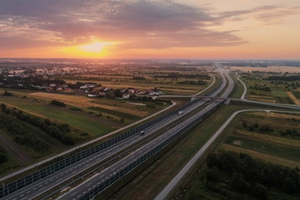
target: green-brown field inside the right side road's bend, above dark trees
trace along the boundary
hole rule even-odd
[[[227,128],[222,147],[236,152],[243,149],[256,158],[266,157],[280,165],[300,166],[300,134],[296,132],[300,132],[297,114],[244,113]],[[289,162],[282,163],[282,159]]]

